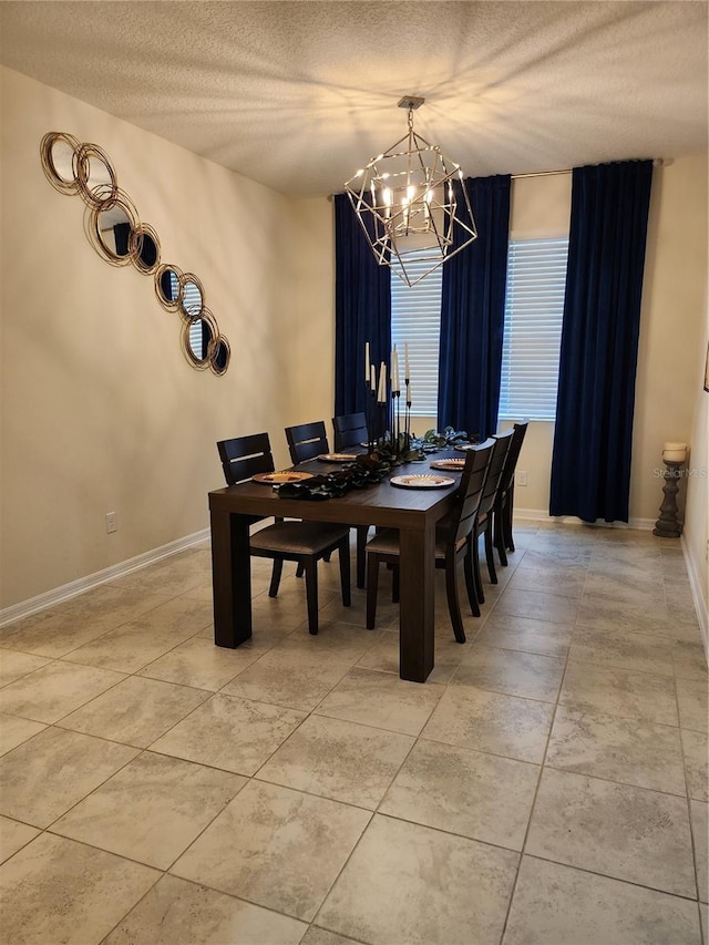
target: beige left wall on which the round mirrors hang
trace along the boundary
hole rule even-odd
[[[316,271],[321,246],[284,197],[17,72],[0,82],[3,609],[207,527],[207,492],[223,485],[217,439],[269,430],[285,461],[282,428],[311,408],[298,403],[312,325],[299,280],[330,274]],[[163,261],[202,279],[232,345],[225,377],[187,364],[152,277],[92,249],[81,199],[42,173],[48,131],[103,147]],[[302,266],[290,263],[294,237]],[[330,286],[308,301],[329,325]],[[329,410],[329,390],[318,394]]]

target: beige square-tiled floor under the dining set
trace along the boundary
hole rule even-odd
[[[212,643],[194,548],[0,631],[0,938],[700,945],[707,661],[677,544],[516,526],[481,619],[398,677],[320,567]],[[441,592],[441,593],[438,593]],[[703,937],[702,937],[703,936]]]

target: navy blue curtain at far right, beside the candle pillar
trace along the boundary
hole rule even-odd
[[[549,514],[628,521],[651,161],[575,167]]]

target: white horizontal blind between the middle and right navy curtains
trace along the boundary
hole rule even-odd
[[[568,237],[510,243],[500,417],[554,420]]]

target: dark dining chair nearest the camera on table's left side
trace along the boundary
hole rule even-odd
[[[268,433],[237,436],[217,443],[227,485],[237,485],[257,473],[275,471]],[[340,562],[342,604],[351,604],[350,530],[347,525],[326,522],[292,522],[276,520],[255,532],[249,538],[254,557],[271,558],[274,571],[268,596],[276,597],[280,585],[282,563],[296,562],[302,567],[308,602],[308,628],[318,633],[318,562],[337,551]]]

